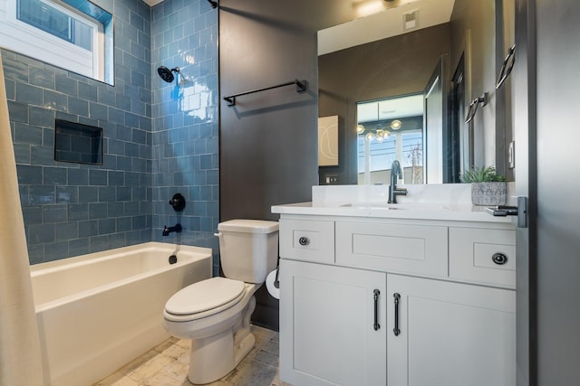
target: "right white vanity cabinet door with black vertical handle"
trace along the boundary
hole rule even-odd
[[[387,275],[387,297],[389,386],[516,384],[515,291]]]

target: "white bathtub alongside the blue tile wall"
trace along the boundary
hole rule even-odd
[[[32,266],[45,385],[92,385],[163,342],[166,301],[211,272],[211,249],[158,242]]]

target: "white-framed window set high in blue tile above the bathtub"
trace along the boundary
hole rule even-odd
[[[109,84],[112,15],[88,0],[0,0],[0,46]]]

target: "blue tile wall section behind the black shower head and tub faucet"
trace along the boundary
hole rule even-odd
[[[152,240],[212,248],[218,273],[218,10],[205,0],[151,8]],[[167,83],[160,66],[179,68]],[[181,193],[183,212],[169,205]],[[163,237],[165,225],[183,231]]]

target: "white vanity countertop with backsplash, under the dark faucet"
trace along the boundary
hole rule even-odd
[[[435,221],[509,223],[485,206],[471,204],[469,184],[407,185],[399,203],[387,203],[387,185],[313,186],[312,202],[272,207],[273,213],[339,217],[370,217]],[[509,187],[508,187],[509,191]]]

